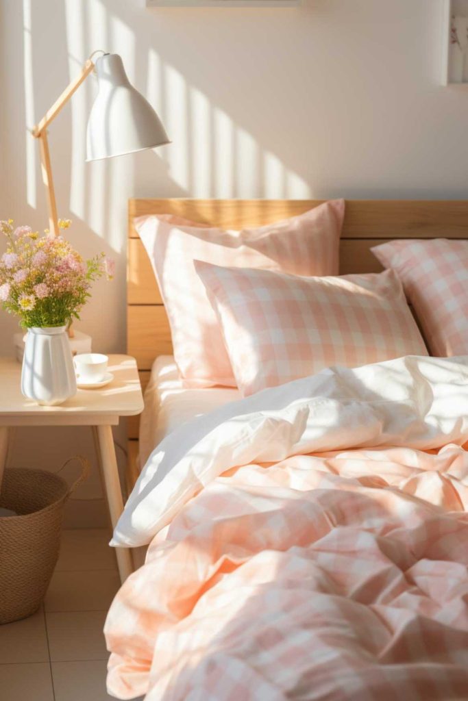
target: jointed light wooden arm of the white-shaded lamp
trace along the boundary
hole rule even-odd
[[[57,216],[57,203],[55,201],[55,189],[53,186],[53,176],[51,167],[51,157],[48,150],[47,141],[47,127],[58,115],[62,107],[67,104],[68,100],[72,95],[78,90],[81,83],[86,80],[88,75],[94,69],[94,62],[91,58],[88,58],[86,63],[83,65],[81,72],[72,81],[67,88],[63,91],[62,95],[55,100],[51,109],[46,111],[46,114],[41,119],[41,121],[36,124],[32,129],[32,135],[39,139],[40,149],[41,149],[41,170],[42,170],[42,182],[46,187],[47,194],[47,205],[48,205],[48,224],[49,224],[49,234],[50,236],[58,236],[58,216]]]

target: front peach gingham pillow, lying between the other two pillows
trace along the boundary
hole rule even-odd
[[[241,393],[331,365],[427,355],[393,271],[300,278],[196,261]]]

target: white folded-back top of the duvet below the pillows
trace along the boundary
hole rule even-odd
[[[111,545],[149,543],[203,486],[236,465],[358,446],[427,450],[467,437],[468,357],[326,369],[173,431],[149,457]]]

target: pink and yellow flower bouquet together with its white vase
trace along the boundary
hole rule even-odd
[[[59,219],[68,229],[69,219]],[[39,404],[60,404],[76,393],[67,325],[91,296],[91,283],[112,279],[114,261],[104,254],[84,261],[62,236],[39,236],[29,226],[0,222],[7,238],[0,258],[0,303],[27,329],[22,393]],[[48,233],[47,231],[45,233]]]

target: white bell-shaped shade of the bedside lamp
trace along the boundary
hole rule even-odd
[[[88,120],[86,161],[169,144],[156,112],[128,81],[121,57],[105,54],[95,67],[99,92]]]

